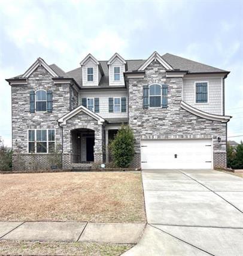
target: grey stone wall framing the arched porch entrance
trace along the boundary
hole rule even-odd
[[[91,116],[84,112],[80,112],[68,119],[68,121],[66,121],[66,125],[63,125],[63,168],[69,169],[72,167],[74,152],[72,152],[71,131],[81,128],[92,129],[95,131],[94,162],[103,162],[103,127],[102,125],[99,125],[98,121],[93,119]]]

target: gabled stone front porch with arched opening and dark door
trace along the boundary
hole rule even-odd
[[[91,168],[109,162],[108,143],[121,124],[107,124],[83,106],[60,118],[59,124],[63,128],[63,169]]]

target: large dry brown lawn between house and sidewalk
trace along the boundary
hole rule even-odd
[[[0,221],[145,222],[141,173],[0,175]]]

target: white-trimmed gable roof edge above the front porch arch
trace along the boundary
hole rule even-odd
[[[98,124],[102,124],[103,122],[105,122],[105,119],[101,118],[101,116],[97,115],[95,112],[92,112],[91,110],[87,109],[82,105],[68,112],[66,115],[62,116],[62,118],[59,118],[57,121],[60,123],[60,125],[66,125],[66,121],[68,121],[68,119],[72,118],[80,112],[84,112],[87,115],[91,116],[93,119],[96,119],[98,121]]]

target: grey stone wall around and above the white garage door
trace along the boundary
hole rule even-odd
[[[167,109],[143,109],[143,86],[151,83],[168,85]],[[182,109],[182,85],[181,77],[166,78],[165,69],[156,61],[146,68],[144,79],[129,79],[129,125],[136,138],[132,167],[140,167],[141,139],[169,138],[213,138],[214,167],[226,167],[226,124],[200,118]]]

